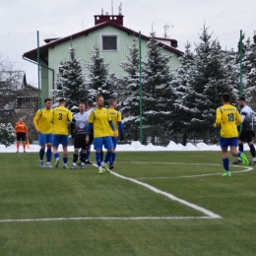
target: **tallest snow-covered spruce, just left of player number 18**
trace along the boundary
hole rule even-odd
[[[186,110],[184,122],[190,137],[208,142],[219,135],[213,128],[216,108],[222,104],[221,97],[229,93],[236,104],[238,90],[235,74],[226,65],[226,52],[220,43],[212,39],[204,27],[200,42],[196,44],[193,65],[188,72],[188,90],[183,95],[182,109]],[[234,71],[235,72],[235,69]],[[216,135],[216,136],[215,136]],[[216,141],[215,141],[216,142]]]

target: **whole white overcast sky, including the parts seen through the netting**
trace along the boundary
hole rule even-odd
[[[30,85],[37,87],[36,66],[22,58],[43,39],[68,36],[95,26],[94,15],[118,14],[122,3],[124,27],[149,35],[167,35],[184,50],[187,41],[199,41],[204,24],[224,48],[237,48],[239,32],[256,31],[256,0],[0,0],[0,59],[9,59],[24,70]]]

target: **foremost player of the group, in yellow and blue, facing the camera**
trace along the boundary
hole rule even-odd
[[[106,163],[110,160],[113,154],[113,143],[111,137],[117,137],[109,111],[103,106],[103,96],[96,96],[96,109],[94,109],[90,114],[87,129],[87,143],[89,143],[90,133],[94,127],[94,145],[99,174],[103,173],[102,169],[105,169],[108,172],[110,171]],[[102,150],[103,145],[107,152],[104,161],[101,163],[100,151]]]

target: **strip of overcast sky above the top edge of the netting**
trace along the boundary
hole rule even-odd
[[[52,32],[69,35],[94,27],[94,15],[118,14],[136,32],[163,34],[200,32],[203,24],[220,33],[256,31],[255,0],[0,0],[0,33]],[[173,28],[172,28],[173,26]]]

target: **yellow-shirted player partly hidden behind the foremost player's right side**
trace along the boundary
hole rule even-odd
[[[116,108],[117,100],[115,98],[109,99],[109,114],[112,118],[114,128],[116,130],[117,137],[111,137],[112,143],[113,143],[113,154],[112,157],[109,160],[109,169],[112,169],[114,167],[114,160],[115,160],[115,149],[118,142],[118,135],[120,134],[120,140],[123,140],[123,124],[122,124],[122,114],[121,112],[117,111]]]

